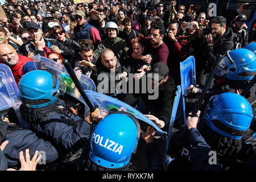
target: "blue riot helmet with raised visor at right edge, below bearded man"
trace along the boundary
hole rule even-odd
[[[216,75],[226,76],[228,80],[250,81],[256,75],[256,55],[243,48],[227,51],[218,65]]]

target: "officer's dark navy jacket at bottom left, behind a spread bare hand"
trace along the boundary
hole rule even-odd
[[[0,128],[0,143],[5,140],[9,141],[3,150],[9,168],[19,169],[19,152],[25,152],[27,148],[32,156],[35,151],[44,152],[46,156],[42,156],[42,158],[46,159],[46,164],[55,162],[59,156],[56,148],[50,142],[40,139],[31,130],[22,129],[16,124],[6,121],[0,121]]]

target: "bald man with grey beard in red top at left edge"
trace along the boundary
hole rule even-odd
[[[11,68],[17,86],[25,73],[35,70],[32,59],[19,55],[12,46],[6,43],[0,44],[0,63]]]

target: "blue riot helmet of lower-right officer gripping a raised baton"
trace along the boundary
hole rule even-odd
[[[253,119],[253,109],[246,98],[226,92],[210,98],[203,119],[218,134],[241,139]]]

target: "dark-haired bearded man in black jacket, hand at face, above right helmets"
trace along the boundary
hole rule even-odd
[[[226,18],[217,16],[212,19],[212,32],[206,36],[205,56],[207,59],[207,68],[210,68],[217,59],[217,55],[225,55],[226,51],[233,50],[234,43],[237,41],[237,35],[233,33],[232,29],[226,27]],[[205,47],[205,45],[204,45]]]

